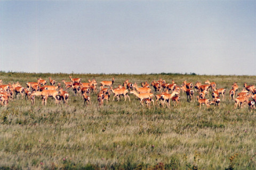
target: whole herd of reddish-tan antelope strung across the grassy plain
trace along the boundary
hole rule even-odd
[[[139,98],[140,104],[146,104],[146,107],[150,108],[151,103],[153,105],[161,105],[162,107],[170,107],[172,101],[173,105],[180,105],[180,95],[181,92],[184,92],[187,96],[187,101],[195,102],[195,94],[199,103],[199,109],[201,110],[201,105],[205,104],[207,107],[210,107],[211,104],[220,107],[221,100],[225,99],[226,89],[219,88],[217,89],[217,84],[215,82],[210,82],[209,80],[205,81],[205,84],[201,82],[196,82],[195,86],[191,82],[183,81],[181,86],[172,81],[172,83],[167,83],[165,80],[159,79],[158,81],[153,81],[151,84],[148,82],[142,82],[141,87],[138,84],[131,83],[129,80],[125,80],[123,86],[121,84],[117,88],[113,88],[115,78],[111,81],[101,81],[100,82],[100,92],[97,92],[97,82],[93,79],[88,82],[82,82],[81,78],[72,78],[69,76],[70,82],[62,80],[65,85],[66,90],[69,88],[73,89],[74,96],[82,96],[84,104],[91,105],[90,93],[95,92],[98,98],[99,107],[101,107],[105,101],[108,103],[110,100],[110,94],[113,93],[113,99],[115,98],[119,101],[120,98],[124,97],[124,101],[128,98],[131,101],[129,93],[135,95]],[[55,104],[62,103],[67,106],[69,93],[61,87],[60,82],[56,82],[51,77],[49,78],[50,85],[46,85],[47,81],[42,78],[38,78],[37,82],[27,82],[26,88],[22,87],[19,82],[17,83],[8,83],[3,84],[3,81],[0,80],[0,102],[2,106],[9,104],[9,100],[13,98],[19,99],[19,94],[23,99],[25,94],[25,99],[31,101],[31,105],[35,104],[35,96],[39,96],[42,99],[42,105],[47,104],[47,98],[52,97],[55,99]],[[55,86],[56,85],[56,86]],[[150,88],[154,88],[154,92]],[[194,88],[194,89],[193,89]],[[14,96],[15,92],[15,96]],[[211,99],[207,99],[207,96],[210,96]],[[14,96],[14,97],[13,97]],[[222,98],[222,99],[221,99]],[[154,100],[155,99],[155,100]],[[245,105],[248,105],[249,111],[255,109],[256,101],[256,88],[255,86],[247,86],[244,83],[244,89],[241,92],[238,92],[238,85],[235,82],[231,86],[229,91],[229,101],[234,100],[236,109],[237,106],[244,108]]]

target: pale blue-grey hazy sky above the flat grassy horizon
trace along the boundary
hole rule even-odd
[[[256,1],[0,1],[0,71],[256,75]]]

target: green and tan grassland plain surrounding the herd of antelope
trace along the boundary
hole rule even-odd
[[[242,90],[244,82],[256,80],[236,75],[14,72],[0,72],[0,79],[25,86],[39,77],[61,82],[68,75],[98,83],[115,77],[114,87],[126,79],[140,83],[162,78],[177,84],[209,79],[227,93],[233,82]],[[34,106],[14,99],[0,107],[0,169],[256,168],[255,111],[234,109],[227,94],[220,109],[203,106],[199,111],[198,103],[188,103],[184,93],[179,107],[147,109],[132,94],[131,102],[109,101],[98,108],[97,94],[91,94],[92,106],[85,106],[81,96],[68,91],[68,107],[55,106],[52,99],[42,106],[39,98]]]

